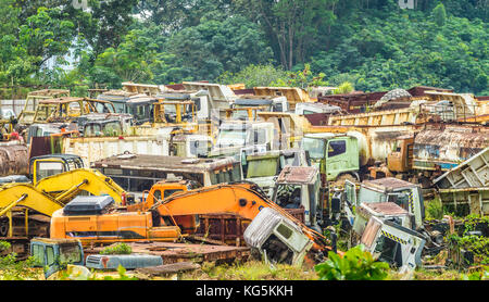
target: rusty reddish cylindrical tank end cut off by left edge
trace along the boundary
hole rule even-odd
[[[29,156],[25,144],[0,146],[0,176],[27,175]]]

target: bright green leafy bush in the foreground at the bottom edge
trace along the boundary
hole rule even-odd
[[[388,276],[389,264],[376,262],[363,246],[358,246],[342,257],[329,252],[328,260],[314,269],[321,280],[384,280]]]

